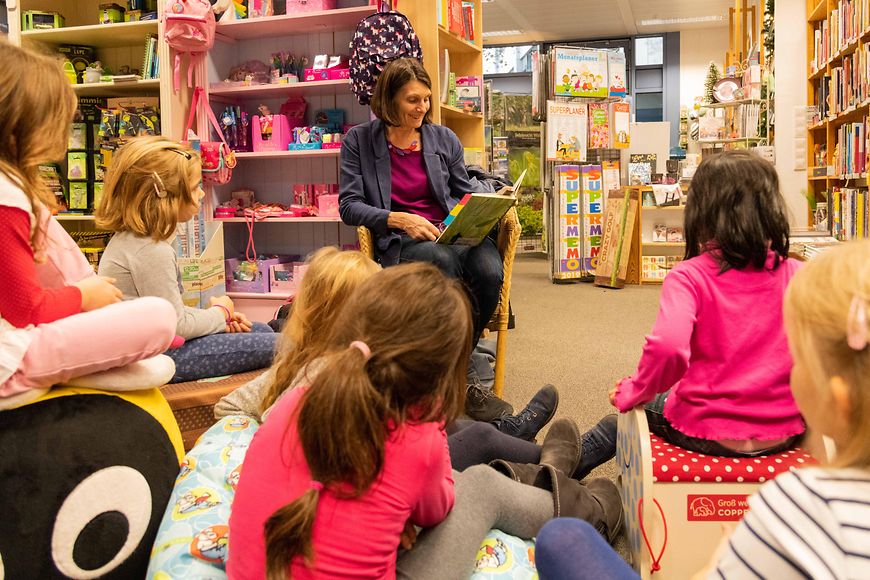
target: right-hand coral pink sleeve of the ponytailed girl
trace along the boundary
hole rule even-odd
[[[421,478],[422,488],[417,505],[411,513],[411,521],[423,528],[440,524],[453,509],[453,466],[447,447],[447,433],[438,429],[430,439],[425,467]]]

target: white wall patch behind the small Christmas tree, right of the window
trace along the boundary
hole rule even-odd
[[[727,26],[680,31],[680,105],[691,107],[695,97],[704,94],[704,79],[711,60],[724,74],[726,52]]]

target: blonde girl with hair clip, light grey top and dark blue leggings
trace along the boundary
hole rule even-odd
[[[193,151],[164,137],[132,139],[112,159],[96,214],[98,227],[116,232],[100,274],[115,278],[124,298],[159,296],[175,307],[176,333],[187,342],[166,353],[175,360],[174,383],[268,367],[278,338],[235,312],[227,296],[206,309],[182,302],[169,241],[199,211],[200,182]]]

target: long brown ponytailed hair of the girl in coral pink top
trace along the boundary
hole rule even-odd
[[[286,578],[296,556],[311,564],[319,494],[364,493],[383,467],[391,429],[459,414],[471,339],[464,291],[431,264],[387,268],[358,288],[333,324],[321,370],[297,410],[311,478],[324,490],[306,491],[267,520],[267,578]],[[371,357],[353,341],[365,342]]]

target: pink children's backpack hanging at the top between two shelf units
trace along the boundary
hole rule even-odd
[[[193,69],[214,46],[214,12],[208,0],[168,0],[163,11],[163,40],[174,54],[172,88],[181,82],[181,55],[190,55],[187,86],[192,85]]]

